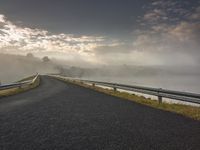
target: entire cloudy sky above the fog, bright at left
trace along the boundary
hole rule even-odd
[[[0,53],[199,65],[199,0],[0,0]]]

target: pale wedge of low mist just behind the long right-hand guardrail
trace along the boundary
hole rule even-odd
[[[200,93],[199,78],[199,75],[156,75],[132,77],[89,77],[85,79]]]

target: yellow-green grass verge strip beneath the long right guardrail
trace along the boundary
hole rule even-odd
[[[147,105],[149,107],[161,109],[164,111],[174,112],[174,113],[177,113],[177,114],[180,114],[180,115],[183,115],[195,120],[200,120],[200,107],[183,105],[183,104],[166,103],[166,102],[159,104],[157,100],[145,98],[144,96],[138,96],[138,95],[130,94],[127,92],[114,91],[111,89],[105,89],[105,88],[96,87],[96,86],[94,87],[92,85],[84,84],[83,82],[79,82],[75,80],[72,81],[72,80],[65,80],[61,78],[58,78],[58,79],[65,82],[73,83],[85,88],[89,88],[98,92],[102,92],[108,95],[119,97],[124,100],[134,101],[136,103]]]

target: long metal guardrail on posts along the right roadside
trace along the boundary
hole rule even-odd
[[[169,98],[169,99],[175,99],[175,100],[180,100],[184,102],[200,104],[200,94],[196,94],[196,93],[180,92],[180,91],[166,90],[166,89],[161,89],[161,88],[151,88],[151,87],[144,87],[144,86],[125,85],[125,84],[110,83],[110,82],[81,80],[77,78],[69,78],[69,77],[62,77],[62,76],[57,76],[57,77],[90,83],[93,86],[95,85],[106,86],[106,87],[113,88],[114,91],[116,91],[117,89],[122,89],[122,90],[128,90],[128,91],[157,96],[159,103],[162,103],[162,98]]]

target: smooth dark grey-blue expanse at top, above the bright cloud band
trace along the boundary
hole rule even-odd
[[[149,0],[5,0],[1,13],[11,21],[52,32],[121,35],[131,31]]]

